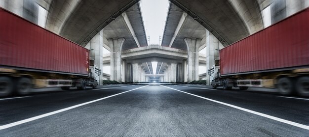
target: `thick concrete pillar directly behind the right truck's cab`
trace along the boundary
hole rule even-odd
[[[206,29],[206,70],[215,64],[215,59],[219,59],[219,50],[223,45],[218,39]],[[210,84],[210,77],[206,76],[207,84]]]

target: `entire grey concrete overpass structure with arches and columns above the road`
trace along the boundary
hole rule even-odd
[[[36,24],[43,20],[42,27],[91,50],[99,67],[106,59],[103,47],[108,49],[111,79],[119,82],[133,77],[123,75],[130,63],[137,64],[134,70],[153,74],[151,61],[158,61],[156,74],[167,73],[179,82],[198,80],[199,65],[209,68],[221,48],[265,27],[264,8],[271,7],[271,23],[275,23],[309,5],[306,0],[170,0],[161,45],[185,51],[185,57],[182,52],[151,47],[132,50],[148,46],[139,0],[22,1],[1,0],[0,6]],[[40,7],[46,15],[40,15]],[[205,47],[207,53],[199,55]],[[134,52],[145,54],[133,57]]]

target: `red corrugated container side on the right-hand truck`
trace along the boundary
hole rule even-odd
[[[221,75],[309,65],[309,8],[220,50]]]

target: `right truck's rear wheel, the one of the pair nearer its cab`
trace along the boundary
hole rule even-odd
[[[293,93],[293,83],[289,78],[280,78],[277,82],[277,86],[281,95],[290,95]]]

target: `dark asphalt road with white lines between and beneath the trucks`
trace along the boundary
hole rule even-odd
[[[34,91],[0,98],[0,137],[309,137],[308,98],[257,88],[111,85]]]

